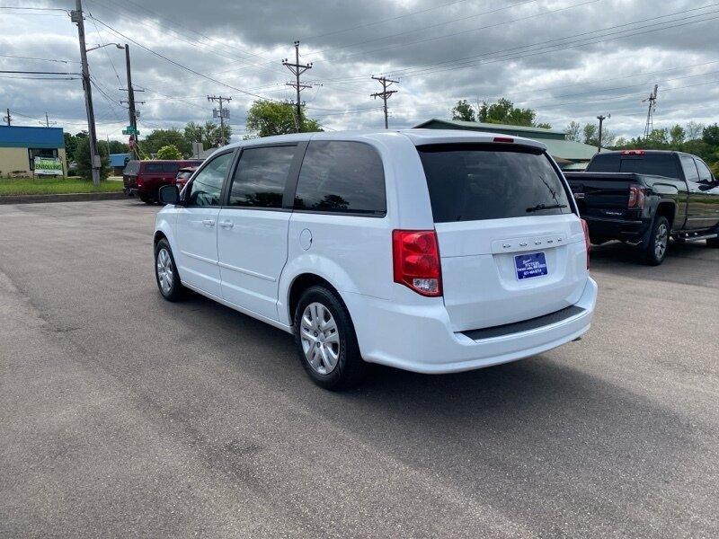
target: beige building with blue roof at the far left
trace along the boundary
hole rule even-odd
[[[67,173],[62,128],[0,126],[0,177],[32,176],[35,157],[59,159]]]

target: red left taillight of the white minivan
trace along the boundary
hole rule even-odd
[[[434,230],[392,232],[395,283],[412,288],[422,296],[442,295],[439,244]]]

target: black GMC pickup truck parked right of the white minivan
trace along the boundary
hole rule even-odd
[[[635,245],[661,264],[670,237],[719,247],[719,182],[696,155],[623,150],[595,155],[586,172],[565,172],[591,243]]]

